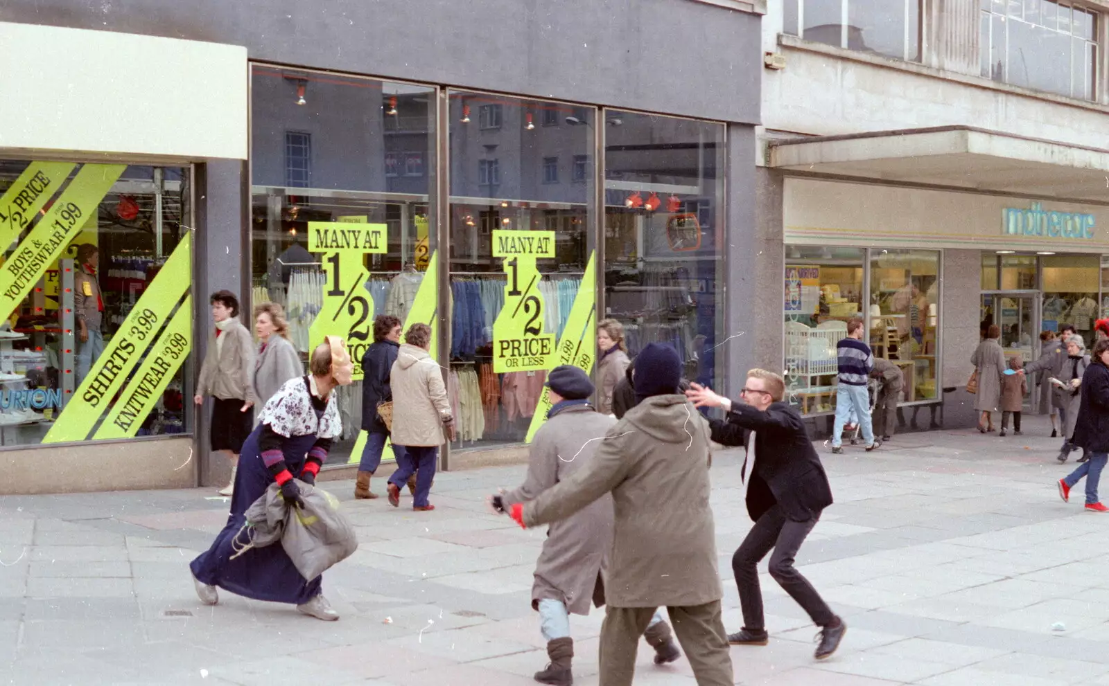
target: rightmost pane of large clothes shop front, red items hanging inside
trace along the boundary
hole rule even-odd
[[[685,378],[725,392],[721,346],[742,332],[723,329],[718,290],[724,127],[607,111],[604,131],[604,316],[623,324],[631,355],[671,344]]]

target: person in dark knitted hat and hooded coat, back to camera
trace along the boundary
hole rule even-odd
[[[639,637],[661,605],[696,683],[734,683],[709,506],[709,427],[678,392],[681,371],[672,347],[645,346],[635,358],[639,405],[597,441],[588,464],[510,509],[521,526],[537,526],[566,520],[612,493],[618,544],[606,573],[602,686],[630,686]]]

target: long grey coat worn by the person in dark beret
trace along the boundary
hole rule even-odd
[[[505,506],[527,502],[589,465],[604,434],[617,423],[588,405],[563,408],[539,431],[529,450],[523,485],[502,496]],[[612,549],[612,496],[604,494],[564,520],[551,522],[536,562],[531,606],[549,598],[574,614],[589,614],[590,601],[604,604],[597,583]]]

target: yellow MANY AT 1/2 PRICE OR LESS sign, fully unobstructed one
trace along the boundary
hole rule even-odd
[[[492,324],[496,373],[548,369],[554,334],[543,334],[543,296],[536,259],[554,257],[552,231],[495,231],[492,256],[505,258],[505,306]]]

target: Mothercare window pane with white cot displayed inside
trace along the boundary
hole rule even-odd
[[[847,321],[864,317],[865,250],[787,246],[785,371],[788,402],[803,414],[835,410],[836,344]]]

